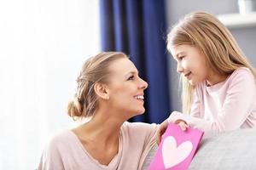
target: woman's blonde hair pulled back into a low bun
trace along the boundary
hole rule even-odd
[[[95,114],[98,98],[94,85],[96,82],[108,83],[108,76],[111,73],[109,65],[114,60],[122,58],[128,57],[120,52],[103,52],[86,60],[77,79],[77,92],[67,105],[67,113],[73,120]]]

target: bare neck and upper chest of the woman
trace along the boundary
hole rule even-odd
[[[119,151],[119,132],[123,122],[98,114],[90,122],[74,128],[84,149],[102,165],[108,165]]]

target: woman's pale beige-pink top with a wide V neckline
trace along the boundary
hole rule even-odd
[[[148,151],[155,144],[156,129],[156,124],[125,122],[119,133],[119,152],[108,166],[90,156],[79,138],[71,130],[66,130],[49,141],[38,170],[141,169]]]

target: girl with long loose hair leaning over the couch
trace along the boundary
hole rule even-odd
[[[186,15],[168,34],[167,48],[183,83],[183,113],[172,112],[168,122],[213,133],[254,127],[256,72],[218,19],[204,12]]]

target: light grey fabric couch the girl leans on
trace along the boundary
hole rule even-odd
[[[148,169],[157,146],[148,153],[143,170]],[[256,169],[256,128],[205,135],[189,170]]]

